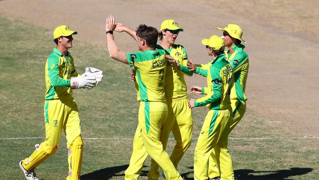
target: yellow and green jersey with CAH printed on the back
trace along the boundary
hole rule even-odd
[[[159,45],[156,45],[155,50],[126,54],[129,65],[134,66],[136,72],[135,89],[139,102],[166,100],[164,92],[166,51]]]

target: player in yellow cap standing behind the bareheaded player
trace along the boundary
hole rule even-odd
[[[134,37],[135,31],[122,24],[115,30],[126,31]],[[175,168],[182,159],[184,153],[189,148],[192,138],[193,120],[191,111],[188,108],[188,99],[186,94],[186,82],[184,74],[192,76],[193,72],[186,67],[188,63],[187,53],[182,45],[174,44],[182,28],[178,26],[175,20],[165,20],[161,23],[159,37],[160,46],[175,59],[175,63],[167,63],[165,74],[165,96],[168,106],[168,115],[160,132],[160,141],[163,149],[166,149],[169,134],[172,131],[176,140],[176,145],[170,156]],[[135,82],[135,72],[131,74],[132,81]],[[135,141],[135,143],[137,143]],[[142,142],[140,142],[142,143]],[[135,145],[142,147],[142,145]],[[137,148],[135,148],[137,149]],[[141,173],[147,152],[143,148],[138,149],[140,157],[131,159],[130,166],[126,170],[126,177],[136,177]],[[160,177],[159,165],[152,159],[151,169],[148,173],[149,180],[157,180]],[[137,178],[137,177],[136,177]]]

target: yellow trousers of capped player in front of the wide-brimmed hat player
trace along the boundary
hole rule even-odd
[[[222,180],[234,180],[232,158],[228,152],[228,134],[231,124],[231,110],[210,110],[204,120],[203,127],[194,153],[194,180],[208,179],[209,158],[216,146],[225,151],[227,156],[220,158],[216,154]]]

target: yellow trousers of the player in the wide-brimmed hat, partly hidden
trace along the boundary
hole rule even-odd
[[[229,128],[229,133],[234,129],[234,127],[238,124],[238,122],[242,119],[243,115],[246,112],[245,101],[231,100],[231,104],[233,109],[233,116]],[[227,153],[218,146],[212,151],[208,168],[208,176],[210,179],[220,177],[220,169],[213,158],[215,154],[219,154],[220,158],[224,158],[225,156],[227,156]]]

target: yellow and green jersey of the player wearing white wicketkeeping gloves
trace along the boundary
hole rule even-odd
[[[67,52],[65,57],[59,50],[54,48],[47,59],[45,67],[46,100],[71,96],[70,79],[77,76],[79,75],[75,70],[71,54]]]

